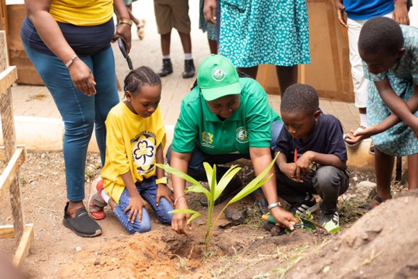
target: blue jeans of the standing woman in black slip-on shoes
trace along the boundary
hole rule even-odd
[[[104,121],[109,110],[119,103],[112,48],[94,56],[81,57],[81,60],[90,67],[97,83],[97,94],[90,97],[74,87],[67,67],[58,57],[35,51],[26,44],[24,48],[51,92],[64,121],[63,153],[67,198],[69,201],[83,201],[87,146],[94,126],[103,165],[106,149]]]

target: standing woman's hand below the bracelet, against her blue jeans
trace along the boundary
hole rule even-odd
[[[96,94],[96,81],[94,81],[94,76],[92,71],[80,58],[74,59],[71,65],[68,67],[69,76],[78,90],[86,94],[87,96],[92,96]]]

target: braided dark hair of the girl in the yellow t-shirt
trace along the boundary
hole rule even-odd
[[[124,81],[124,91],[129,91],[131,94],[139,93],[144,85],[161,85],[160,76],[146,66],[129,72]]]

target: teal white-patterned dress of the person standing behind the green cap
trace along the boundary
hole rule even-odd
[[[219,53],[235,67],[309,64],[306,0],[221,0]]]

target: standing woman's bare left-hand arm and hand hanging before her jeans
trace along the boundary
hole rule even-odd
[[[65,64],[76,55],[52,15],[49,13],[51,0],[26,0],[26,15],[31,19],[44,44]],[[68,67],[76,88],[91,96],[96,94],[94,77],[90,68],[80,58],[75,58]]]

